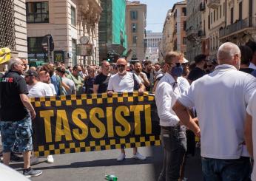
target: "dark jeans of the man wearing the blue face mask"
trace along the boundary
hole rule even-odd
[[[164,146],[164,165],[158,181],[176,181],[180,177],[186,153],[186,129],[180,126],[162,126],[161,140]]]

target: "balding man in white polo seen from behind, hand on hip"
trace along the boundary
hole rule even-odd
[[[203,177],[207,180],[249,180],[250,161],[243,130],[246,105],[256,79],[238,71],[240,49],[227,42],[218,49],[219,66],[194,81],[172,109],[186,126],[187,109],[195,106],[201,129]],[[197,126],[188,126],[196,134]]]

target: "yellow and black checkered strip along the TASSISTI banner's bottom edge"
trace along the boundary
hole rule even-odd
[[[160,146],[159,136],[145,136],[145,137],[129,137],[97,140],[86,142],[70,142],[70,143],[55,143],[47,146],[38,146],[38,151],[35,151],[35,156],[47,156],[49,154],[70,154],[87,151],[100,151],[120,148],[134,148],[141,146]]]

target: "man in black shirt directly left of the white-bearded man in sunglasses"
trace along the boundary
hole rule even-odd
[[[101,73],[96,76],[93,83],[93,93],[101,94],[107,92],[107,86],[110,81],[110,62],[102,61],[101,63]]]

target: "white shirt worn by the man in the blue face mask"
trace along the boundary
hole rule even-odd
[[[177,82],[166,72],[155,89],[155,103],[158,108],[160,126],[177,126],[179,118],[172,110],[172,106],[183,92],[189,89],[189,82],[179,77]]]

